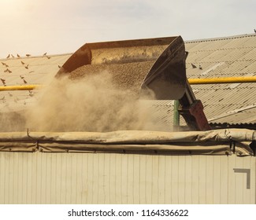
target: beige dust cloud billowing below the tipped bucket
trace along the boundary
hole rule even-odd
[[[54,79],[24,116],[32,131],[145,130],[152,124],[138,94],[117,88],[108,72]]]

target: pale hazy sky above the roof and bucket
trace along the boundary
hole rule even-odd
[[[0,58],[73,53],[86,42],[254,33],[255,0],[0,0]]]

